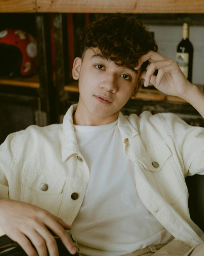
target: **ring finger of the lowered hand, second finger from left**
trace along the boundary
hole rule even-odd
[[[47,247],[44,238],[35,230],[26,230],[24,234],[30,239],[35,246],[39,256],[47,256]]]

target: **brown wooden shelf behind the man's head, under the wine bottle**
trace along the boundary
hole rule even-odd
[[[64,86],[64,90],[68,92],[79,92],[78,90],[78,81],[73,81],[71,84]],[[164,93],[158,90],[143,89],[140,88],[137,93],[137,99],[142,100],[153,100],[153,101],[172,101],[172,102],[183,102],[188,103],[182,98],[165,95]]]

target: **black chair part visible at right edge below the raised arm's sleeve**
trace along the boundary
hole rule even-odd
[[[187,176],[185,182],[189,192],[190,218],[204,232],[204,175]]]

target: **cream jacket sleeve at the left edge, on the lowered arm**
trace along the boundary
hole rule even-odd
[[[13,160],[16,133],[9,134],[0,145],[0,199],[9,198],[7,175]]]

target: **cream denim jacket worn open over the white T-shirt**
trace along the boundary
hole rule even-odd
[[[73,129],[76,108],[68,109],[63,124],[31,125],[7,136],[0,146],[0,199],[35,204],[72,224],[90,177]],[[176,239],[190,246],[203,242],[204,233],[189,216],[184,178],[204,174],[204,128],[172,113],[147,111],[139,117],[120,112],[118,128],[144,205]],[[48,185],[46,191],[42,184]]]

